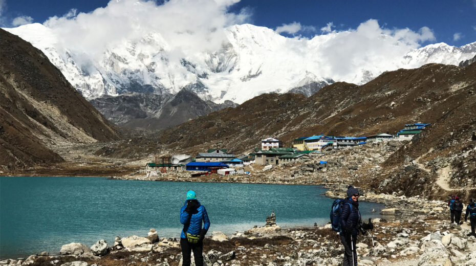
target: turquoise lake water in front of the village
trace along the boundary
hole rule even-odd
[[[92,246],[115,236],[180,237],[179,212],[188,190],[210,217],[209,232],[231,234],[264,226],[272,210],[280,227],[324,225],[332,199],[302,185],[122,181],[78,177],[0,177],[0,256],[57,253],[62,245]],[[384,206],[362,202],[364,217]]]

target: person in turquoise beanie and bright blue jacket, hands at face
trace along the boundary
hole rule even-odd
[[[208,219],[205,206],[197,201],[197,195],[192,190],[187,192],[185,204],[180,209],[180,223],[183,224],[183,230],[180,234],[182,266],[190,266],[191,251],[195,256],[195,265],[203,266],[203,238],[205,238],[205,234],[210,228],[210,219]]]

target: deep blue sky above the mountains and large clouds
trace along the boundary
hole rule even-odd
[[[228,0],[220,0],[228,1]],[[44,23],[49,17],[63,16],[71,9],[88,13],[105,7],[107,0],[0,0],[2,27]],[[156,1],[159,4],[161,1]],[[242,0],[228,12],[248,14],[246,22],[277,30],[284,36],[312,38],[329,31],[355,29],[376,19],[387,29],[409,28],[417,32],[428,27],[434,40],[422,45],[446,42],[461,46],[476,41],[476,0],[459,1],[277,1]]]

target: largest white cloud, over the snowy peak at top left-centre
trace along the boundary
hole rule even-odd
[[[44,25],[61,36],[59,45],[93,56],[124,40],[139,40],[160,33],[178,57],[204,50],[216,51],[226,39],[224,29],[243,24],[249,10],[228,13],[237,0],[170,0],[162,5],[154,1],[110,1],[106,7],[90,13],[71,10],[61,17],[50,17]]]

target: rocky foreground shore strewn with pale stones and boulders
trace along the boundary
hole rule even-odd
[[[326,193],[341,197],[339,190]],[[450,224],[446,204],[421,197],[364,193],[363,200],[387,204],[385,218],[375,218],[373,232],[359,235],[359,265],[475,265],[476,238],[466,236],[468,224]],[[343,248],[330,225],[281,229],[279,217],[269,215],[266,225],[225,235],[209,232],[204,240],[208,266],[340,265]],[[159,230],[160,231],[160,230]],[[372,239],[373,233],[373,239]],[[373,240],[373,241],[372,241]],[[179,239],[160,238],[154,229],[147,236],[116,237],[113,245],[101,239],[92,247],[70,243],[60,255],[48,252],[28,258],[7,259],[0,265],[181,265]],[[193,265],[193,264],[192,264]]]

